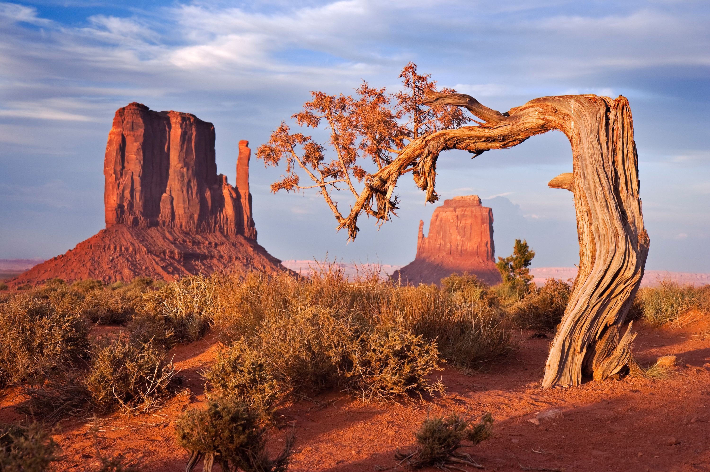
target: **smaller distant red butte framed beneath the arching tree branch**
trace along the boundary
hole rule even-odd
[[[477,195],[444,200],[432,214],[429,236],[419,222],[417,256],[392,275],[393,280],[419,285],[439,284],[452,273],[477,275],[484,282],[501,282],[493,247],[493,210]]]

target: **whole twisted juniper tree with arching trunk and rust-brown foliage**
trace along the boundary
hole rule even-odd
[[[626,366],[635,334],[626,314],[638,290],[648,255],[639,199],[638,156],[628,100],[596,95],[542,97],[506,113],[451,89],[437,92],[429,75],[410,62],[400,77],[403,91],[387,94],[363,83],[355,96],[312,92],[297,124],[317,128],[325,121],[334,158],[324,146],[282,123],[258,158],[285,164],[271,189],[317,188],[354,240],[361,213],[380,224],[396,215],[393,194],[399,177],[412,172],[427,202],[435,192],[436,164],[444,150],[466,150],[475,158],[486,150],[510,148],[531,136],[562,131],[572,145],[573,172],[548,184],[574,194],[579,234],[579,274],[550,348],[544,387],[579,385],[582,375],[608,378]],[[464,114],[468,110],[476,119]],[[473,121],[476,126],[466,126]],[[300,175],[312,182],[300,184]],[[351,192],[343,215],[333,192]]]

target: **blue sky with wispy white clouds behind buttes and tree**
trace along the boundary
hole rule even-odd
[[[0,258],[50,258],[104,227],[103,159],[116,109],[138,101],[214,124],[234,182],[238,142],[268,141],[309,92],[395,92],[409,61],[499,111],[559,94],[628,97],[646,267],[710,272],[710,4],[706,1],[0,2]],[[579,262],[571,172],[557,131],[475,160],[439,158],[442,198],[493,208],[496,255],[515,238],[533,266]],[[404,178],[399,219],[344,231],[315,190],[272,194],[251,161],[258,242],[280,259],[406,264],[435,205]]]

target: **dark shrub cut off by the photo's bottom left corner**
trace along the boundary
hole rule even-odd
[[[55,460],[56,449],[50,433],[38,423],[0,424],[0,471],[44,472]]]

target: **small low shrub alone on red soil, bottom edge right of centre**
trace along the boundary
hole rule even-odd
[[[395,453],[399,465],[403,463],[414,468],[434,466],[442,471],[452,469],[463,470],[459,465],[484,468],[467,453],[459,451],[464,446],[464,439],[472,445],[485,441],[493,434],[493,417],[485,413],[481,421],[472,422],[467,415],[456,413],[448,417],[430,418],[424,420],[422,426],[415,434],[417,449],[407,453]]]

